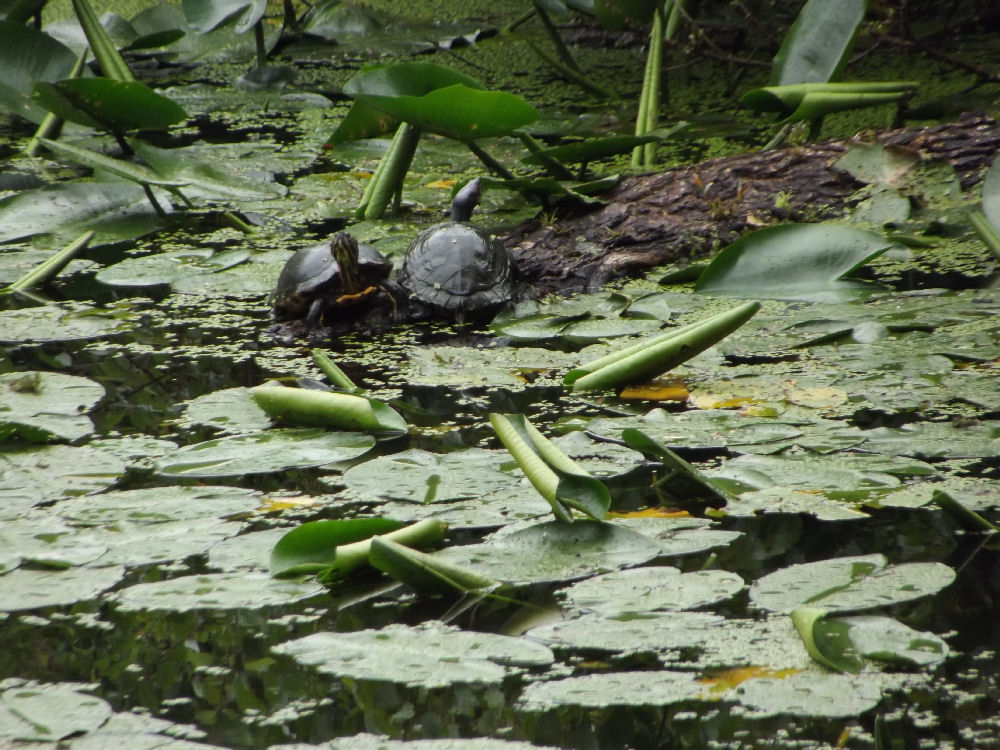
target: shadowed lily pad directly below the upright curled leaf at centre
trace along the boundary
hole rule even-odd
[[[435,554],[493,580],[529,584],[641,565],[659,553],[652,539],[612,523],[549,521]]]

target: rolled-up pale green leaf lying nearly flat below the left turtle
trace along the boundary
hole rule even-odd
[[[279,422],[366,432],[406,432],[406,421],[381,401],[346,393],[264,385],[250,395]]]

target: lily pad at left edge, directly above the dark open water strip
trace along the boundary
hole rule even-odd
[[[0,577],[0,612],[59,607],[96,599],[125,575],[119,566],[34,570],[18,568]]]

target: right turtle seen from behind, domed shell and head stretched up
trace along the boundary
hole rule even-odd
[[[436,313],[462,320],[511,301],[510,254],[485,229],[468,223],[480,197],[477,177],[455,196],[451,221],[425,229],[410,243],[396,281],[410,295],[416,317]]]

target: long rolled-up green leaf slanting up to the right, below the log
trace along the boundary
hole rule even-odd
[[[627,356],[609,355],[571,370],[563,384],[574,391],[613,388],[659,375],[701,354],[746,323],[760,303],[746,302],[707,320],[683,326],[672,335],[662,334],[645,344],[629,347]],[[610,359],[610,361],[609,361]],[[594,365],[598,365],[595,369]]]

